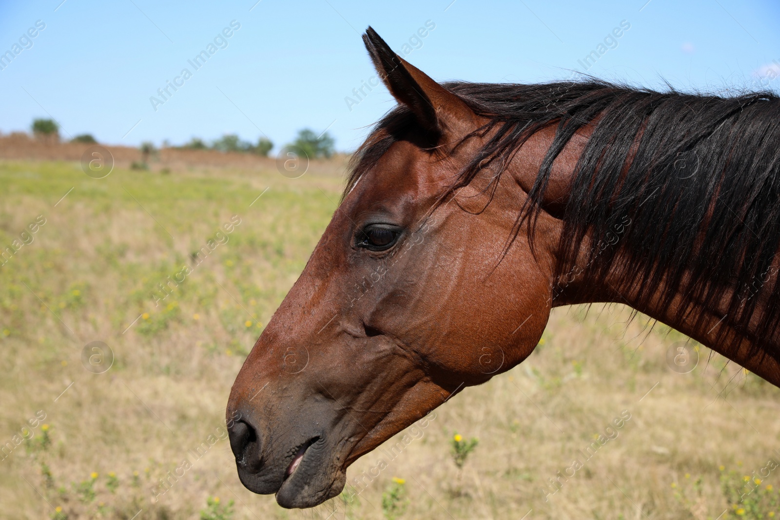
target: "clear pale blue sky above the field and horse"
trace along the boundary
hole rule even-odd
[[[441,81],[562,79],[601,50],[587,73],[608,80],[780,90],[780,79],[761,80],[780,73],[780,3],[768,0],[255,2],[0,0],[0,53],[19,51],[0,70],[0,131],[51,116],[64,138],[92,133],[135,146],[238,133],[266,135],[278,150],[309,127],[327,128],[339,150],[353,150],[394,104],[383,87],[364,88],[360,100],[353,94],[374,74],[360,40],[368,25]],[[233,20],[240,27],[231,31]],[[435,27],[419,37],[426,23]],[[196,70],[188,60],[225,27],[231,36]],[[615,28],[620,37],[605,44]],[[178,90],[168,87],[171,95],[153,104],[175,80]]]

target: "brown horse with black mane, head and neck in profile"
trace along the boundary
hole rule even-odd
[[[780,98],[587,78],[437,83],[368,27],[398,101],[227,405],[284,508],[521,363],[553,307],[631,307],[780,385]]]

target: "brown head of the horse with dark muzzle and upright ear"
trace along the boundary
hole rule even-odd
[[[335,497],[361,455],[525,359],[550,310],[550,248],[523,234],[506,247],[516,180],[455,186],[491,138],[484,120],[371,28],[363,40],[399,106],[358,150],[228,403],[242,483],[286,508]],[[555,236],[555,219],[536,226]]]

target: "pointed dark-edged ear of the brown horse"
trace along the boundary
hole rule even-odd
[[[474,129],[477,116],[468,105],[395,54],[377,31],[368,27],[363,43],[385,86],[399,103],[411,109],[424,129],[447,140],[456,140]]]

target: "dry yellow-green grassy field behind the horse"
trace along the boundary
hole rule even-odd
[[[335,210],[342,165],[314,169],[0,162],[0,245],[23,244],[0,267],[0,518],[771,518],[780,390],[704,347],[675,373],[686,338],[621,306],[555,310],[525,363],[353,465],[388,464],[357,496],[244,489],[225,402]],[[456,433],[479,441],[462,469]]]

